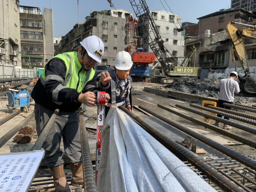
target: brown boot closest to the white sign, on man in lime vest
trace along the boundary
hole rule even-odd
[[[67,183],[63,165],[59,167],[50,167],[53,176],[53,185],[55,192],[71,192]]]

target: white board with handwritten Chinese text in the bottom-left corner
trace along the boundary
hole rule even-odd
[[[0,154],[0,191],[28,191],[43,157],[44,150]]]

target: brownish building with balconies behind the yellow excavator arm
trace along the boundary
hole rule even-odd
[[[256,15],[244,9],[220,10],[199,19],[199,35],[186,40],[186,47],[194,45],[197,48],[195,65],[203,69],[225,69],[234,67],[231,49],[226,31],[229,21],[235,21],[237,27],[243,23],[255,25]],[[256,41],[244,38],[244,44],[250,66],[256,65]],[[192,59],[194,60],[194,59]],[[239,61],[236,66],[241,67]]]

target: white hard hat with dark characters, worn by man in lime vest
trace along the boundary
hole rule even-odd
[[[101,63],[101,58],[104,54],[104,43],[99,37],[95,35],[86,37],[80,44],[92,59]]]

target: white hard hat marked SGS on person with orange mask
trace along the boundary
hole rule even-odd
[[[131,55],[126,51],[120,51],[116,54],[113,63],[118,70],[128,70],[132,67]]]

